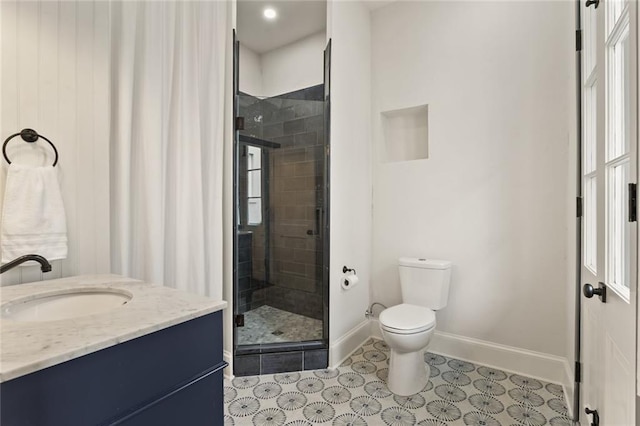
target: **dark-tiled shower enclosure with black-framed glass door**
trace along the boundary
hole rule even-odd
[[[237,376],[327,366],[324,98],[324,85],[236,98]]]

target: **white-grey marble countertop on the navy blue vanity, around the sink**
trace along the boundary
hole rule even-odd
[[[118,275],[85,275],[0,288],[0,303],[38,293],[105,288],[130,293],[108,312],[56,321],[0,319],[0,382],[227,307],[227,302]]]

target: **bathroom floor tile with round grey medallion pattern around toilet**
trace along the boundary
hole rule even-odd
[[[572,426],[562,386],[427,353],[427,386],[410,397],[385,380],[389,349],[370,339],[335,370],[225,380],[225,426]]]

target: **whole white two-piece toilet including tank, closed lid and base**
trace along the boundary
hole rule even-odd
[[[447,306],[451,262],[398,260],[402,303],[380,313],[382,338],[391,349],[387,386],[396,395],[420,392],[429,381],[424,352],[436,329],[434,311]]]

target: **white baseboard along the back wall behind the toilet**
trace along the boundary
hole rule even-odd
[[[382,338],[377,318],[371,319],[370,330],[372,337]],[[565,388],[565,396],[573,395],[573,376],[564,357],[442,331],[433,335],[429,352],[560,384]]]

